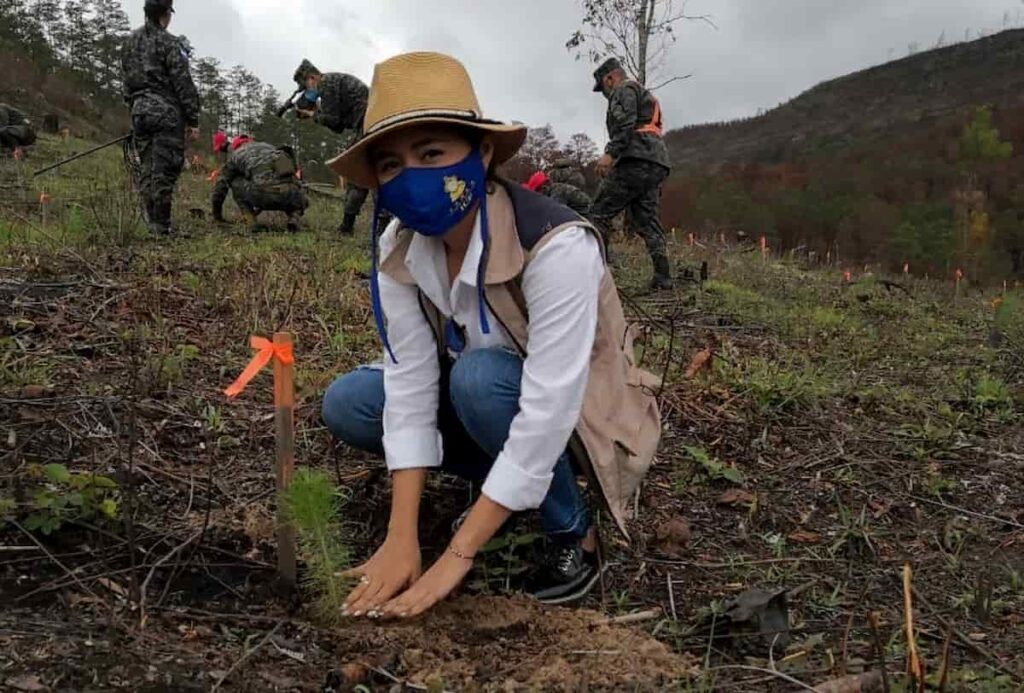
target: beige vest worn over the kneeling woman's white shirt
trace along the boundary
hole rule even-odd
[[[523,269],[545,244],[567,228],[582,226],[598,240],[600,234],[587,223],[563,224],[548,231],[526,253],[519,243],[511,200],[500,185],[487,197],[487,217],[490,248],[484,294],[490,311],[525,357],[529,353],[529,318],[519,288]],[[395,281],[415,285],[406,267],[413,232],[399,233],[397,245],[384,258],[380,269]],[[425,296],[422,303],[440,344],[443,340],[440,312]],[[600,287],[587,392],[569,450],[581,469],[596,482],[615,524],[627,537],[626,520],[631,516],[633,495],[653,462],[662,436],[655,396],[658,387],[659,379],[636,364],[633,331],[626,322],[614,278],[606,268]]]

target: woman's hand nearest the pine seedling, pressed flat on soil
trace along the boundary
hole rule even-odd
[[[419,540],[389,533],[369,561],[345,573],[346,577],[358,577],[359,583],[348,595],[341,614],[358,617],[378,613],[398,591],[416,582],[421,572]]]

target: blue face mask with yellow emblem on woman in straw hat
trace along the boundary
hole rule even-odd
[[[442,235],[466,218],[483,194],[479,149],[444,168],[409,168],[380,186],[381,206],[423,235]]]

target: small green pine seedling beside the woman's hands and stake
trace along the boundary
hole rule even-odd
[[[304,582],[315,596],[316,610],[326,622],[341,619],[341,607],[350,579],[342,571],[350,554],[339,517],[343,496],[328,475],[299,468],[282,494],[285,516],[295,527],[299,556],[305,562]]]

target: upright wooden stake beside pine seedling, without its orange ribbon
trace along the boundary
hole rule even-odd
[[[287,332],[273,335],[274,346],[292,345]],[[292,480],[295,468],[295,366],[273,359],[274,430],[276,433],[278,497],[281,497]],[[278,574],[287,588],[296,584],[295,529],[278,510]]]

